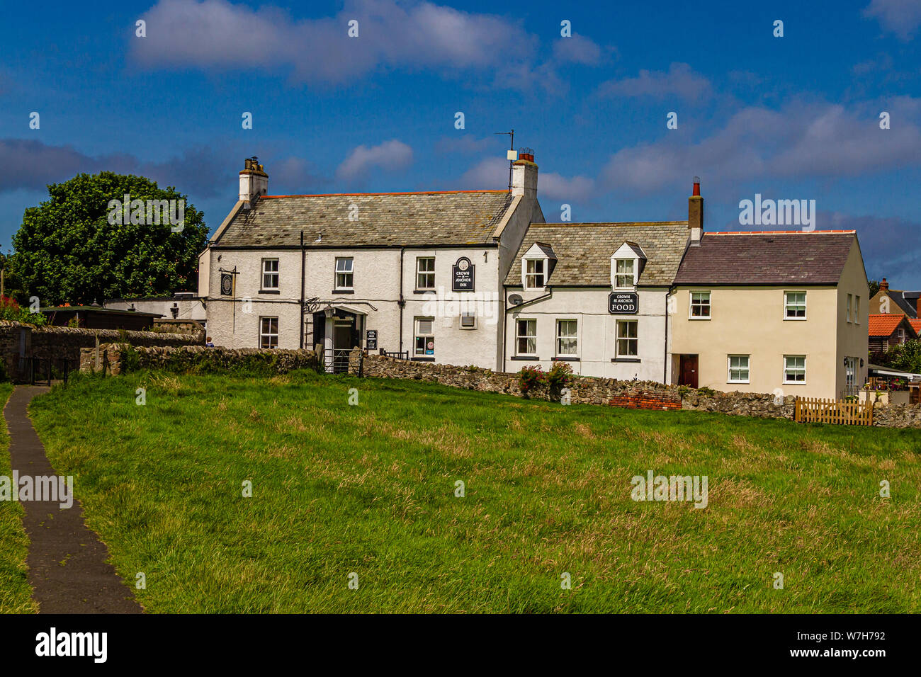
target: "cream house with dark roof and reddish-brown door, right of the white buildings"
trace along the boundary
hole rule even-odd
[[[693,233],[670,301],[674,382],[857,394],[867,377],[869,285],[855,231],[703,233],[701,201]]]

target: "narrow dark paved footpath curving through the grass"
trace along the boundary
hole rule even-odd
[[[17,386],[4,407],[13,471],[20,476],[56,475],[27,407],[47,388]],[[83,523],[83,509],[60,501],[23,501],[23,526],[29,536],[29,583],[39,613],[141,613],[132,590],[106,560],[109,553]]]

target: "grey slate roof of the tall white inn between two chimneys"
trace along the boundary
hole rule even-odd
[[[491,243],[512,196],[507,191],[269,195],[239,214],[213,242],[223,247],[404,246]],[[350,221],[349,205],[358,218]]]

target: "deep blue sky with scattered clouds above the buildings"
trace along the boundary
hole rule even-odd
[[[514,128],[548,221],[562,204],[574,221],[686,218],[698,175],[705,229],[750,229],[755,193],[814,199],[816,228],[857,228],[871,278],[921,288],[919,0],[2,9],[3,251],[44,186],[80,171],[175,185],[214,230],[245,157],[271,194],[504,188],[494,133]]]

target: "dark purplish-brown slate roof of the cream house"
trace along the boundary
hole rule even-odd
[[[676,285],[837,285],[853,230],[704,233]]]

